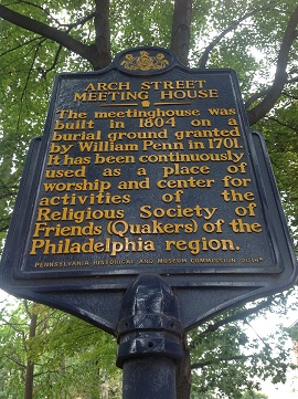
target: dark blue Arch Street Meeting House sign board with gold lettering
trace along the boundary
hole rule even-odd
[[[119,314],[146,275],[174,295],[181,332],[291,285],[289,233],[235,72],[191,70],[168,50],[137,48],[104,71],[57,75],[0,272],[8,292],[118,334],[129,356]],[[127,317],[143,344],[136,312]],[[141,317],[179,342],[157,313]],[[149,343],[147,351],[157,347]]]

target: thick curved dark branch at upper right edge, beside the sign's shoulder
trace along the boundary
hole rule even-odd
[[[297,38],[297,24],[298,24],[298,7],[292,12],[283,42],[280,44],[275,78],[272,86],[268,90],[268,93],[265,95],[264,99],[257,104],[253,109],[247,111],[249,125],[254,125],[260,118],[263,118],[275,105],[277,102],[284,85],[287,82],[287,63],[289,59],[289,51],[292,45],[294,40]]]

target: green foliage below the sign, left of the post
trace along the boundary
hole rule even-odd
[[[38,315],[30,337],[30,314]],[[0,321],[0,398],[23,397],[25,367],[34,364],[34,399],[119,397],[116,342],[108,334],[43,305],[6,303]],[[1,396],[2,395],[2,396]]]

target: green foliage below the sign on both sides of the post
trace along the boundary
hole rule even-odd
[[[269,311],[284,314],[286,300],[286,295],[272,298]],[[255,318],[268,312],[259,307],[252,312],[260,304],[230,311],[190,332],[191,398],[243,399],[247,389],[259,389],[260,380],[285,382],[291,367],[285,348],[288,333],[276,326],[264,336],[253,327]],[[0,398],[22,397],[29,361],[34,364],[34,399],[102,399],[104,392],[120,398],[121,371],[115,366],[117,344],[113,336],[43,305],[20,301],[2,306]],[[38,324],[30,337],[32,314]]]

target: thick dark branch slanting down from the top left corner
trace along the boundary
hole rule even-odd
[[[70,34],[52,28],[43,22],[39,22],[32,18],[25,17],[19,12],[12,11],[4,6],[0,6],[0,18],[23,28],[30,32],[38,33],[43,38],[50,39],[70,51],[81,55],[83,59],[89,61],[92,65],[96,63],[96,54],[93,46],[86,45],[78,40],[72,38]]]

